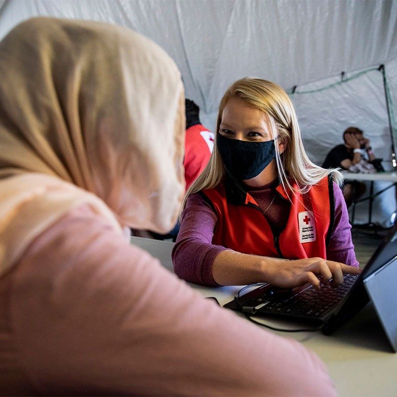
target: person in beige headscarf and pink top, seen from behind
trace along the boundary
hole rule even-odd
[[[333,395],[299,343],[206,301],[122,229],[184,193],[184,90],[150,40],[35,18],[0,43],[0,394]]]

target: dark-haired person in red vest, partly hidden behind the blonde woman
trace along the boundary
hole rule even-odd
[[[214,133],[207,130],[199,119],[199,106],[190,99],[185,100],[186,138],[185,167],[186,190],[198,178],[211,157]]]

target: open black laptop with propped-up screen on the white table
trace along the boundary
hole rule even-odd
[[[281,289],[264,283],[224,307],[248,316],[299,320],[331,334],[372,301],[382,327],[397,351],[397,223],[360,275],[344,275],[342,285]]]

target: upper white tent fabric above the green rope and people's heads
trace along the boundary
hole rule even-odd
[[[287,89],[397,58],[390,0],[7,0],[0,37],[34,15],[104,20],[150,37],[174,58],[205,113],[242,76]]]

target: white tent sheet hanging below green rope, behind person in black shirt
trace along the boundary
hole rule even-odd
[[[389,83],[397,81],[397,62],[386,64]],[[344,78],[359,73],[346,73]],[[310,158],[321,165],[335,142],[342,142],[343,131],[356,126],[371,140],[377,157],[384,159],[383,166],[392,170],[392,138],[387,113],[383,75],[372,70],[357,78],[337,84],[322,91],[299,94],[302,91],[316,91],[340,82],[335,76],[296,88],[291,98],[298,112],[305,147]],[[370,183],[366,183],[367,191]],[[390,182],[375,182],[374,190],[380,191]],[[357,204],[355,223],[368,223],[368,201]],[[391,226],[391,217],[396,211],[395,189],[391,188],[379,195],[373,203],[372,221]]]

